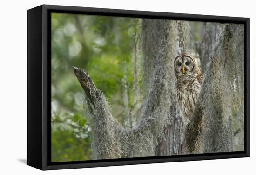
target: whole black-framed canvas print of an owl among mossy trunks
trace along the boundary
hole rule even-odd
[[[28,10],[27,164],[249,156],[249,18]]]

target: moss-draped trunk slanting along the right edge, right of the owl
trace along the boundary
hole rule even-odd
[[[243,43],[243,25],[226,25],[187,126],[183,152],[244,150]]]

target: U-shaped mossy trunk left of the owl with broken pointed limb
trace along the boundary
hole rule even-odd
[[[170,106],[176,104],[172,98],[175,96],[173,58],[176,55],[176,26],[177,22],[172,20],[142,21],[144,71],[148,77],[145,76],[145,84],[148,88],[141,121],[132,129],[117,123],[104,94],[94,86],[85,70],[74,68],[86,92],[88,111],[92,116],[92,149],[95,159],[156,155],[156,147],[170,122]]]

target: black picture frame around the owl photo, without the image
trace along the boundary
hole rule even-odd
[[[240,152],[207,153],[178,156],[155,156],[74,162],[50,162],[51,12],[244,24],[245,150]],[[27,11],[27,164],[37,169],[50,170],[249,157],[249,23],[249,18],[167,12],[145,12],[75,6],[41,5],[29,9]]]

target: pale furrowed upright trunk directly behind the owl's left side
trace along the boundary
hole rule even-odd
[[[175,21],[173,28],[176,29],[176,31],[174,31],[174,35],[177,35],[177,40],[173,40],[173,43],[169,45],[169,47],[172,48],[172,50],[170,50],[172,56],[169,59],[171,59],[172,62],[174,62],[175,57],[179,53],[187,52],[189,50],[190,42],[190,26],[188,21]],[[176,47],[176,45],[178,45],[178,47]],[[171,74],[174,76],[173,64],[170,69],[172,71]],[[158,156],[178,155],[182,153],[181,142],[184,137],[186,119],[184,119],[180,114],[179,106],[176,100],[176,78],[173,77],[173,80],[175,81],[172,83],[171,89],[173,95],[170,96],[170,114],[168,123],[165,125],[164,137],[157,147],[156,155]]]

